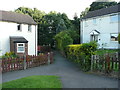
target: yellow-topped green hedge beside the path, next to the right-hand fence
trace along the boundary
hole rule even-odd
[[[79,64],[81,70],[89,71],[91,67],[91,55],[95,54],[96,50],[96,42],[68,45],[66,56],[69,60]]]

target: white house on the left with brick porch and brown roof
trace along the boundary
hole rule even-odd
[[[10,51],[37,55],[37,24],[28,15],[0,11],[0,56]]]

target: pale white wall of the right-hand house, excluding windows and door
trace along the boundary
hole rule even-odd
[[[100,32],[98,35],[99,48],[117,49],[118,41],[111,41],[110,35],[111,33],[118,33],[118,22],[111,22],[110,15],[94,17],[96,18],[96,24],[93,23],[93,18],[81,21],[82,43],[90,42],[90,32],[97,30]]]

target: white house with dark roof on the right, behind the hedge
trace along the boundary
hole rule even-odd
[[[99,48],[118,49],[120,4],[88,12],[81,20],[81,43],[97,41]]]

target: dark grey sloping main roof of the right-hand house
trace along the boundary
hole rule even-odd
[[[82,19],[92,18],[92,17],[96,17],[96,16],[102,16],[102,15],[107,15],[107,14],[117,13],[117,12],[120,12],[120,4],[115,5],[115,6],[110,6],[107,8],[102,8],[102,9],[95,10],[95,11],[90,11]]]

